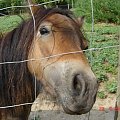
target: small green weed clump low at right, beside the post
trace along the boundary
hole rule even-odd
[[[116,93],[117,92],[117,82],[116,81],[107,82],[106,89],[109,93]]]

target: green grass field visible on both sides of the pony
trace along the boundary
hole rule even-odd
[[[24,15],[24,18],[26,16]],[[0,17],[0,32],[6,33],[16,27],[22,19],[17,16]],[[91,32],[91,24],[84,24],[84,33],[92,48],[104,48],[119,44],[118,34],[120,26],[114,24],[98,23]],[[91,61],[92,54],[92,61]],[[106,98],[107,93],[115,93],[117,89],[118,47],[104,48],[100,50],[86,51],[86,55],[92,63],[92,69],[104,88],[99,90],[98,97]]]

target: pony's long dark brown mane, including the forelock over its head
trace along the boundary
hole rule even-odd
[[[43,9],[35,13],[36,30],[48,15],[59,13],[71,17],[71,13],[60,9]],[[0,63],[22,61],[28,58],[34,38],[34,22],[30,18],[17,28],[0,37]],[[27,63],[0,64],[0,106],[34,101],[34,80]],[[19,109],[19,108],[18,108]],[[24,106],[24,109],[25,106]],[[17,111],[12,111],[14,114]]]

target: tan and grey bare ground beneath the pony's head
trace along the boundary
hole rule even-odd
[[[107,99],[97,98],[89,113],[68,115],[49,96],[40,95],[32,106],[29,120],[114,120],[115,101],[116,96],[109,94]]]

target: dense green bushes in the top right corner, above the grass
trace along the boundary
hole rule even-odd
[[[75,13],[85,15],[91,22],[91,1],[76,1]],[[93,0],[95,22],[113,22],[120,24],[120,1],[119,0]]]

